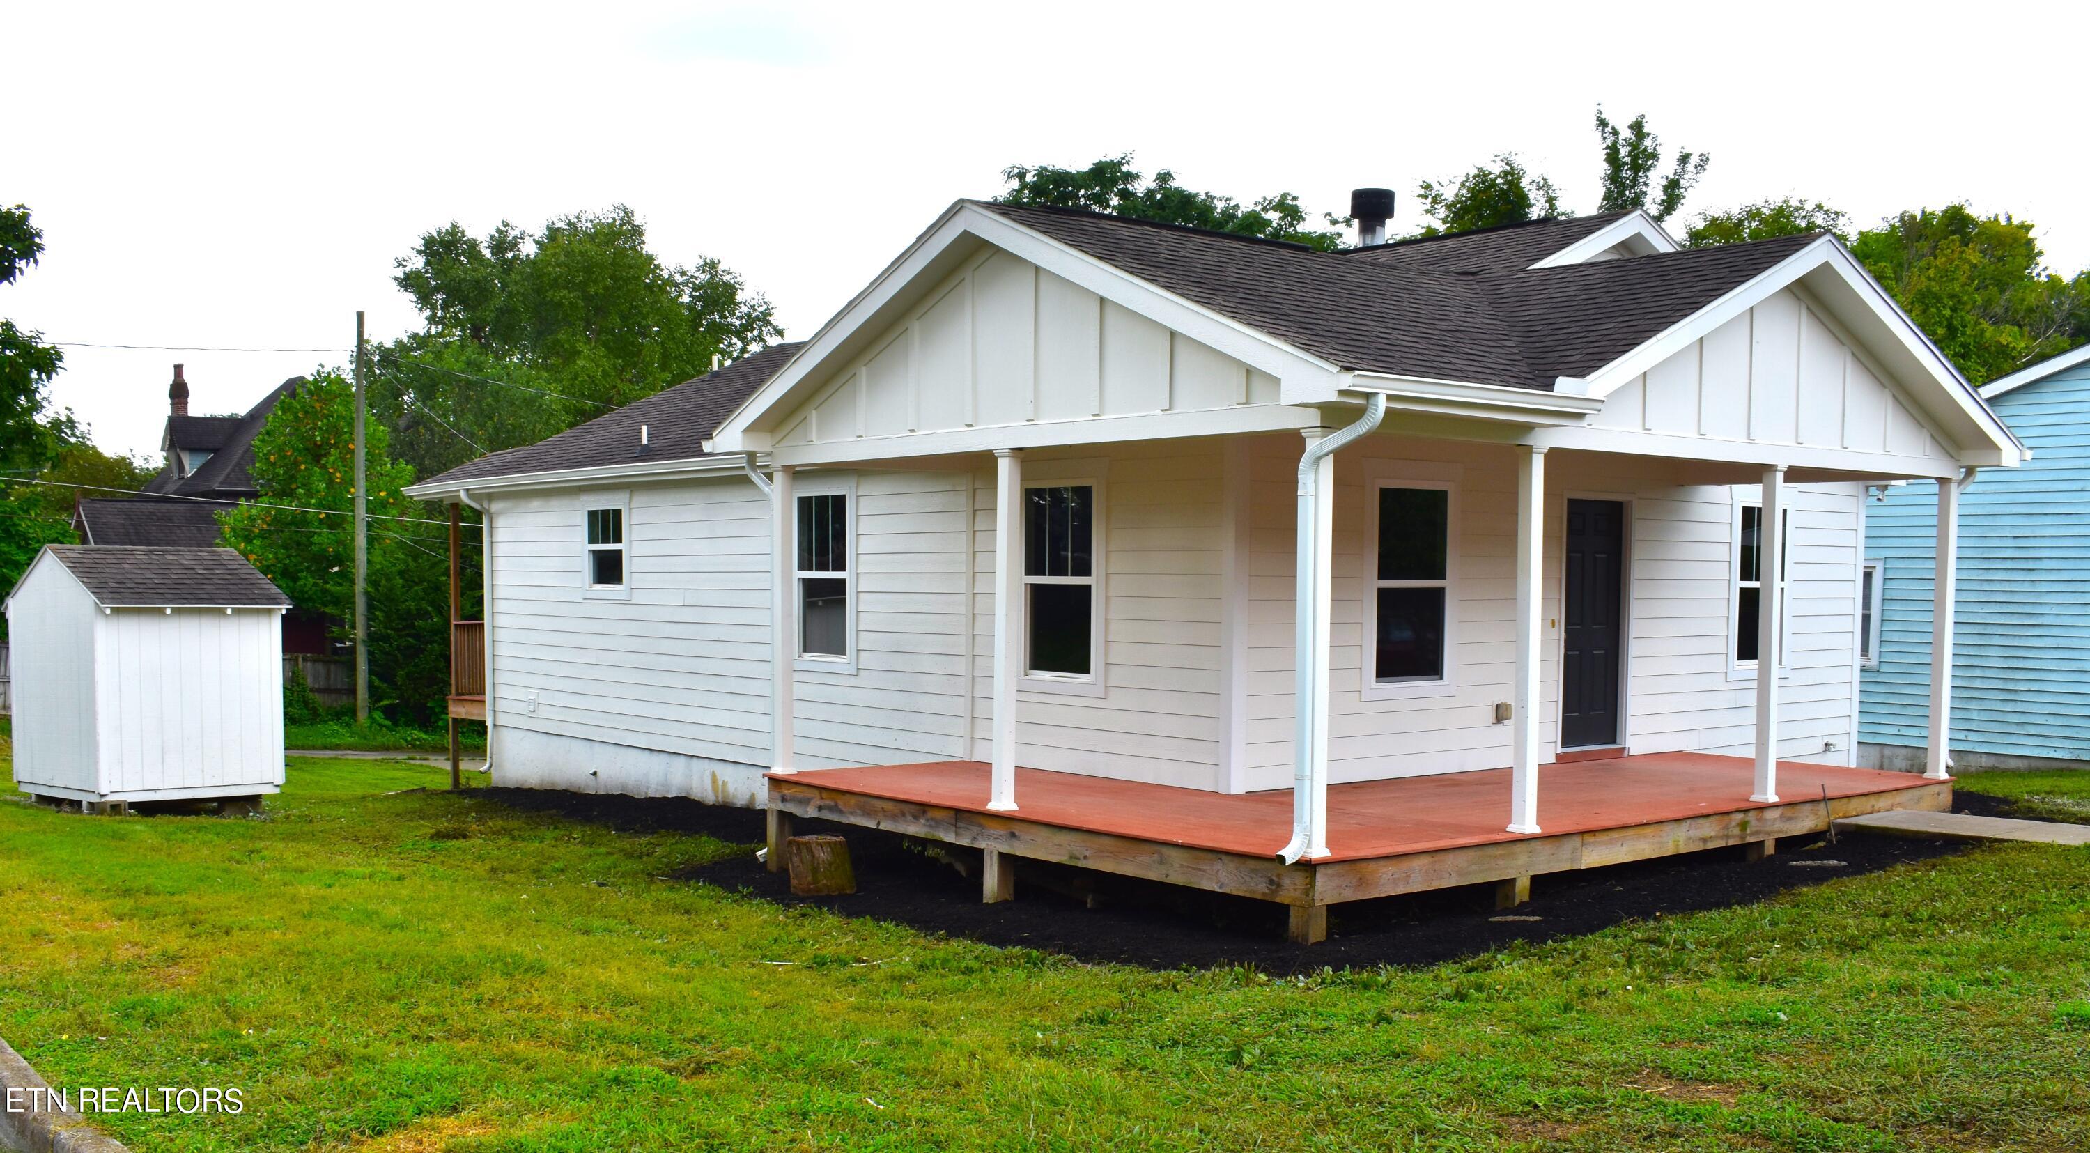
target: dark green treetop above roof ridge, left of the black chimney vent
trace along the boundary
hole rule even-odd
[[[1237,236],[1292,240],[1329,251],[1344,242],[1342,230],[1306,228],[1306,209],[1292,192],[1260,196],[1241,205],[1233,196],[1195,192],[1177,184],[1177,173],[1160,169],[1147,180],[1133,167],[1133,155],[1104,157],[1085,169],[1051,165],[1001,169],[1009,188],[995,196],[999,205],[1045,205],[1058,209],[1089,209],[1160,223],[1183,223]],[[1327,217],[1329,223],[1346,223]]]

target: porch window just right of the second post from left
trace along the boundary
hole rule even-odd
[[[1026,675],[1095,675],[1095,487],[1024,491]]]

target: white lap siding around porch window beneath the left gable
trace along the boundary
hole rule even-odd
[[[1018,762],[1200,790],[1218,779],[1225,466],[1214,443],[1110,445],[1104,696],[1018,693]],[[1045,474],[1049,457],[1028,455]],[[995,489],[976,478],[974,758],[993,756]]]

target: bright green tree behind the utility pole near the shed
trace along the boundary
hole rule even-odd
[[[314,372],[276,403],[255,437],[253,478],[261,497],[217,514],[238,549],[299,608],[353,620],[355,395],[339,370]],[[370,424],[370,685],[372,704],[395,721],[426,725],[449,691],[447,531],[403,489],[414,468]],[[293,512],[324,510],[324,512]]]

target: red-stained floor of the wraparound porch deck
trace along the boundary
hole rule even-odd
[[[978,760],[811,769],[782,781],[913,804],[986,813],[989,767]],[[1931,781],[1910,773],[1779,762],[1785,804],[1885,794]],[[1754,764],[1741,756],[1653,752],[1542,764],[1538,825],[1547,836],[1651,825],[1712,813],[1768,808],[1749,802]],[[1292,792],[1214,794],[1078,773],[1016,771],[1016,817],[1041,825],[1275,856],[1292,838]],[[1329,785],[1323,861],[1396,856],[1526,840],[1509,823],[1509,769]]]

